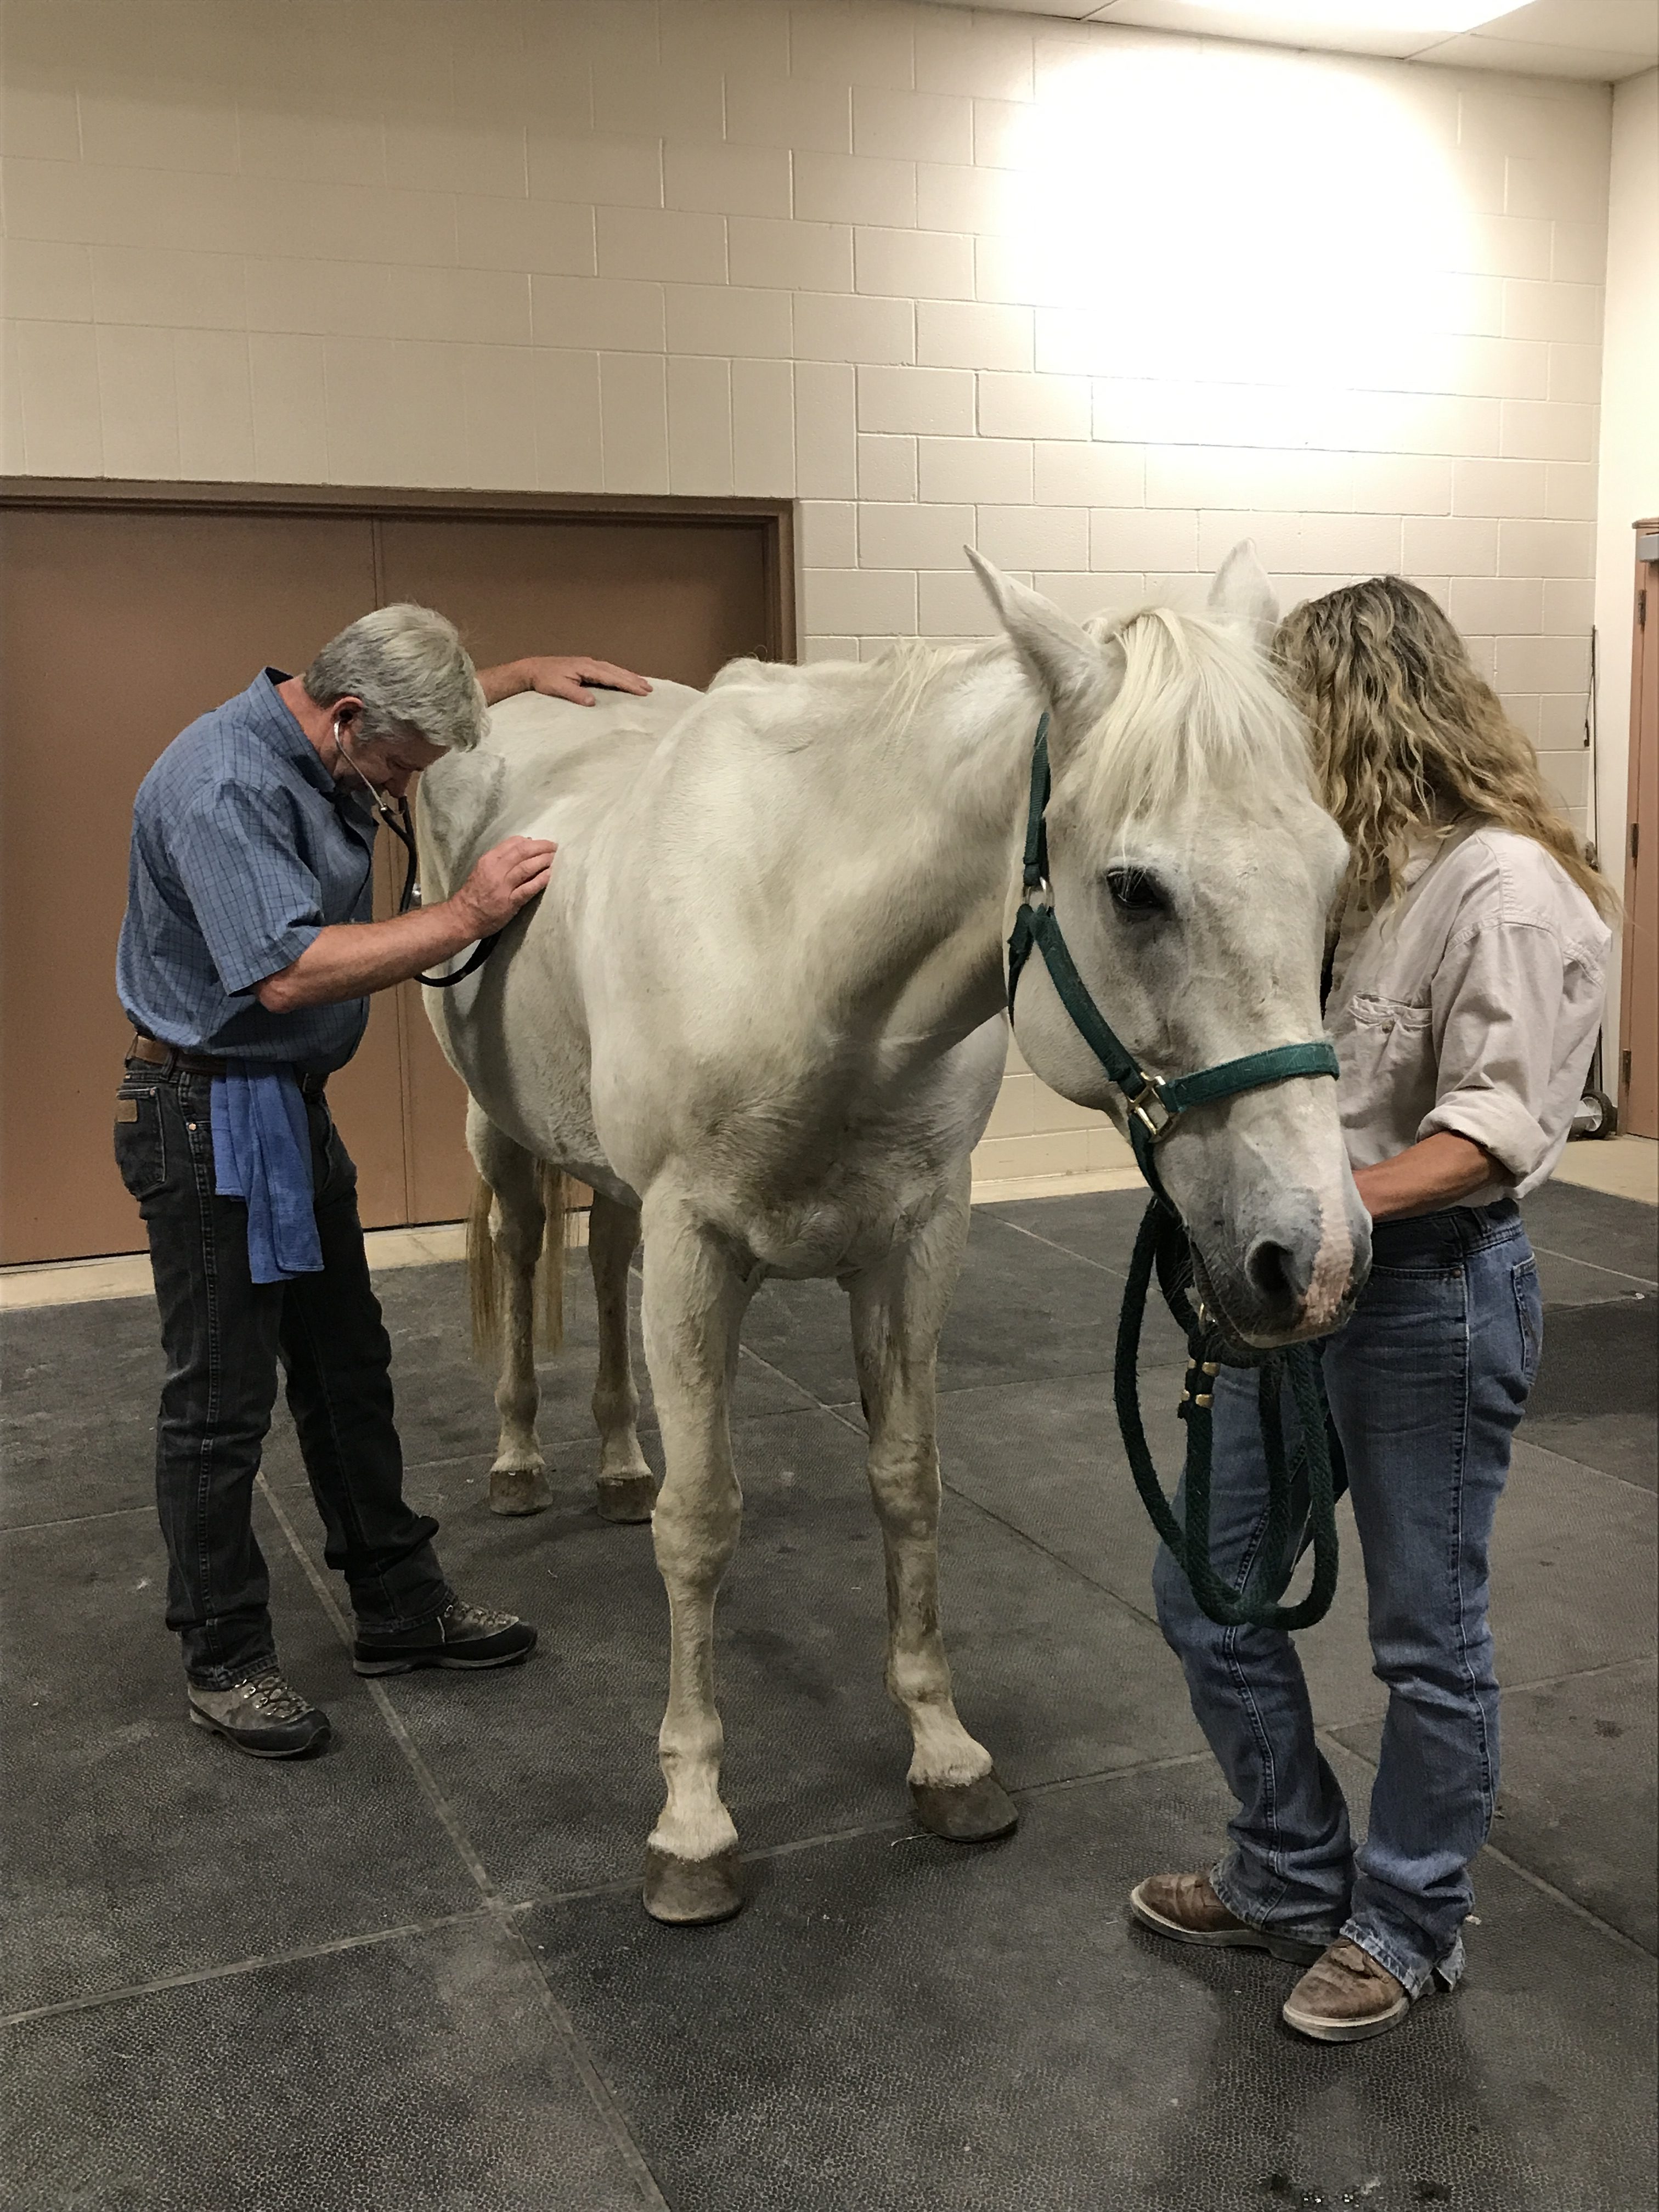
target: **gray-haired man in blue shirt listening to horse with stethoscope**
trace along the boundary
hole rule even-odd
[[[456,1597],[438,1524],[403,1498],[392,1345],[325,1084],[363,1037],[369,993],[504,929],[553,860],[542,838],[507,838],[442,905],[376,922],[387,796],[476,745],[498,699],[591,706],[588,684],[650,690],[586,655],[476,672],[442,615],[383,606],[303,677],[265,668],[192,721],[139,785],[115,1159],[148,1230],[168,1365],[155,1451],[166,1619],[190,1719],[259,1759],[330,1736],[279,1670],[252,1528],[279,1367],[325,1559],[352,1595],[358,1674],[493,1668],[535,1646],[526,1621]]]

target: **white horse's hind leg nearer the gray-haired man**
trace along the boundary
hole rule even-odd
[[[489,1471],[491,1513],[540,1513],[553,1500],[535,1440],[535,1263],[546,1208],[538,1161],[482,1113],[467,1113],[467,1146],[493,1194],[487,1223],[469,1239],[473,1336],[480,1352],[500,1354],[495,1411],[500,1438]],[[557,1263],[557,1254],[555,1254]]]

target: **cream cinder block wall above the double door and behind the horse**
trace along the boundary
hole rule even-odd
[[[1442,597],[1568,805],[1604,86],[783,0],[13,0],[11,473],[801,500],[807,655],[1254,533]],[[982,1179],[1124,1148],[1018,1062]]]

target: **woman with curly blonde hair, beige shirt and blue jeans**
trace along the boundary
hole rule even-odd
[[[1371,1276],[1321,1360],[1389,1705],[1356,1851],[1294,1641],[1217,1626],[1161,1553],[1159,1621],[1239,1812],[1208,1874],[1155,1874],[1130,1905],[1161,1936],[1307,1964],[1285,2022],[1356,2042],[1462,1973],[1498,1790],[1486,1562],[1542,1347],[1515,1201],[1582,1095],[1613,894],[1416,584],[1310,599],[1276,657],[1354,856],[1325,1020]],[[1239,1588],[1265,1531],[1254,1398],[1252,1374],[1217,1376],[1212,1557]]]

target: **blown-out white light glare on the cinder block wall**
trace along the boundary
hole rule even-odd
[[[1462,195],[1369,71],[1104,53],[1037,102],[1018,164],[1020,261],[1057,310],[1040,367],[1274,385],[1285,442],[1303,442],[1285,387],[1449,389],[1429,356],[1447,345],[1438,272],[1469,268]]]

